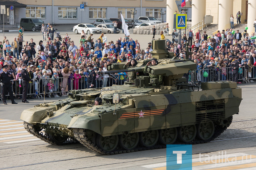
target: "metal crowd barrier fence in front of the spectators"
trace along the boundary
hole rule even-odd
[[[238,80],[240,82],[249,83],[249,76],[248,71],[245,69],[245,67],[239,67],[240,71],[238,73]],[[204,72],[207,72],[208,76],[204,77]],[[186,76],[185,76],[186,77]],[[252,75],[253,79],[253,75]],[[56,96],[58,94],[61,94],[62,96],[65,96],[65,93],[67,93],[69,90],[73,89],[86,89],[91,86],[91,84],[88,84],[86,77],[81,77],[80,79],[73,78],[63,78],[63,77],[57,77],[56,79],[53,78],[40,78],[32,79],[33,81],[29,83],[28,87],[28,96],[34,96],[36,98],[41,98],[45,95]],[[52,81],[52,85],[48,85],[49,81]],[[102,88],[102,87],[109,87],[113,84],[117,85],[123,85],[125,81],[128,80],[128,76],[126,73],[116,73],[116,74],[105,74],[97,73],[96,76],[96,88]],[[189,84],[196,85],[198,81],[201,82],[209,82],[209,81],[232,81],[232,69],[230,67],[227,68],[220,68],[220,69],[202,69],[200,72],[196,72],[196,70],[189,71],[188,75],[188,82]],[[21,87],[19,87],[21,85]],[[19,80],[12,80],[12,90],[14,93],[14,96],[22,97],[22,83],[19,82]],[[2,100],[2,94],[3,94],[3,87],[0,85],[0,100]],[[6,96],[9,96],[7,94]]]

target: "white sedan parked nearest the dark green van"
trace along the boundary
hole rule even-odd
[[[82,33],[82,30],[84,31],[84,33],[86,34],[101,34],[101,29],[95,27],[92,24],[78,24],[76,26],[73,27],[73,31],[78,34],[78,33]]]

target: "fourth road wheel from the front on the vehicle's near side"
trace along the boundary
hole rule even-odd
[[[177,136],[177,128],[160,129],[158,141],[163,145],[170,145],[176,141]]]

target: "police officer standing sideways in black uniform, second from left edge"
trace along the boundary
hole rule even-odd
[[[22,102],[23,103],[29,103],[26,100],[26,97],[27,97],[27,94],[28,94],[28,86],[29,86],[29,82],[31,82],[31,79],[29,78],[26,64],[22,65],[21,77],[22,77],[22,86],[23,86]]]

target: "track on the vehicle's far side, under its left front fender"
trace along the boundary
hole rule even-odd
[[[24,128],[29,132],[31,133],[32,135],[34,135],[35,137],[47,142],[47,143],[50,143],[50,144],[54,144],[54,145],[67,145],[67,144],[74,144],[74,143],[78,143],[77,140],[73,140],[73,138],[68,138],[65,142],[63,143],[56,143],[55,141],[52,141],[50,139],[50,137],[46,134],[43,134],[42,132],[39,133],[39,131],[37,130],[37,128],[35,127],[35,125],[33,124],[30,124],[30,123],[27,123],[27,122],[24,122]]]

